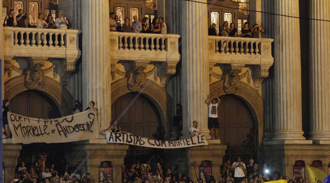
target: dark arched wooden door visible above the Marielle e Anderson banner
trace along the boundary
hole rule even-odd
[[[28,90],[17,94],[9,101],[9,110],[31,118],[59,118],[61,114],[46,94]]]

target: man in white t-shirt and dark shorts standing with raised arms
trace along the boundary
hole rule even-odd
[[[216,96],[218,102],[215,102],[215,98],[210,101],[209,95],[207,97],[207,103],[209,105],[209,120],[208,128],[211,131],[211,139],[220,139],[218,137],[219,121],[218,121],[218,106],[220,104],[220,98]]]

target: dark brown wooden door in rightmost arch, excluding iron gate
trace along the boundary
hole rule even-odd
[[[248,108],[237,98],[225,95],[218,106],[221,144],[240,145],[253,128]]]

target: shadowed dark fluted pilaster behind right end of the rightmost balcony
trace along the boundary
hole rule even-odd
[[[274,13],[274,0],[261,1],[263,12]],[[274,39],[274,15],[261,14],[261,26],[264,28],[265,38]],[[273,140],[275,131],[274,104],[274,66],[269,68],[269,76],[262,82],[262,98],[264,100],[264,138],[263,141]]]

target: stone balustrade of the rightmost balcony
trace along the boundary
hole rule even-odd
[[[273,39],[209,36],[209,62],[272,65]]]

